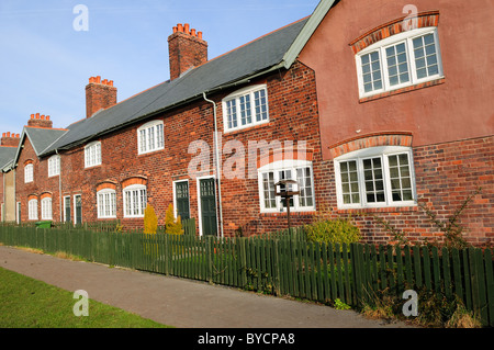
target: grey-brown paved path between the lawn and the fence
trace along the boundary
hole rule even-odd
[[[0,246],[0,268],[70,292],[85,290],[90,300],[179,328],[407,328],[352,311],[12,247]]]

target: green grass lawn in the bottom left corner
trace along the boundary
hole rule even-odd
[[[89,300],[75,316],[74,293],[0,268],[0,328],[164,328],[138,315]]]

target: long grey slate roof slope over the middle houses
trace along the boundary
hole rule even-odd
[[[306,22],[307,19],[292,23],[195,67],[178,79],[162,82],[69,125],[55,143],[45,143],[41,156],[48,156],[56,149],[69,149],[182,103],[203,99],[203,92],[218,90],[277,66]]]

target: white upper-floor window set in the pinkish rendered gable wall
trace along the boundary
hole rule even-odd
[[[437,27],[402,32],[356,55],[360,98],[444,77]]]

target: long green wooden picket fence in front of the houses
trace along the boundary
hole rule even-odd
[[[362,305],[372,303],[378,291],[402,295],[405,290],[430,290],[447,297],[457,295],[483,325],[494,325],[490,249],[326,245],[306,241],[300,229],[216,238],[3,226],[0,241],[321,303],[339,298]]]

